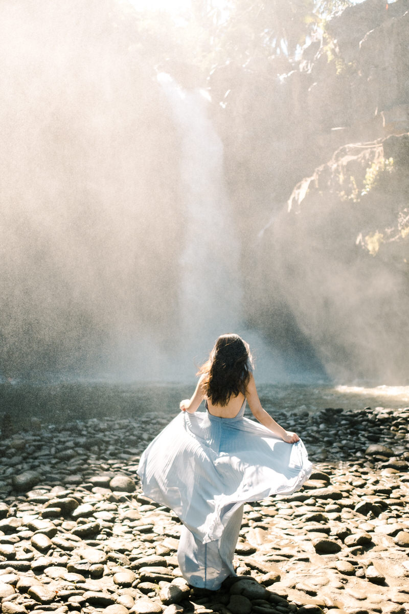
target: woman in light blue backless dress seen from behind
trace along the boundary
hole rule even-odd
[[[221,335],[182,413],[142,454],[143,492],[183,523],[178,563],[189,584],[216,590],[235,575],[233,556],[245,502],[291,494],[312,472],[296,433],[263,410],[248,344]],[[206,399],[207,411],[196,413]],[[244,418],[246,400],[257,424]]]

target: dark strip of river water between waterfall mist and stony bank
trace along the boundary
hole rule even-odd
[[[15,430],[26,429],[32,418],[42,424],[64,424],[90,418],[131,418],[146,412],[178,412],[182,398],[193,394],[192,384],[63,381],[53,384],[0,384],[0,419],[12,418]],[[331,386],[328,384],[261,384],[262,405],[274,411],[297,415],[316,413],[328,407],[362,410],[365,407],[392,409],[409,406],[409,386]]]

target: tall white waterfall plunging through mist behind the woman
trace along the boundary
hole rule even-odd
[[[219,335],[236,332],[258,358],[259,381],[283,381],[280,357],[243,321],[240,241],[224,184],[223,144],[208,116],[210,97],[204,90],[183,90],[164,73],[158,82],[181,139],[185,232],[178,311],[183,356],[175,362],[182,370],[193,359],[201,363]]]

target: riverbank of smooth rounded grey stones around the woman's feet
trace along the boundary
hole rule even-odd
[[[180,577],[180,524],[142,495],[140,453],[169,422],[32,422],[0,443],[4,614],[405,614],[409,408],[275,414],[315,462],[301,491],[245,507],[237,578]]]

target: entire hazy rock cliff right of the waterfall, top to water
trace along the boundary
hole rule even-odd
[[[250,321],[290,362],[307,351],[340,380],[407,383],[408,4],[345,10],[266,106],[253,98],[271,121],[251,136],[257,172],[234,187],[257,212],[251,231],[270,211],[256,257],[244,250]]]

